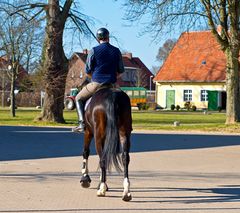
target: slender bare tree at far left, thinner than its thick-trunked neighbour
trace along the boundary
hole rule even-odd
[[[18,1],[15,1],[15,5],[17,4]],[[33,50],[34,45],[40,42],[40,37],[35,34],[38,24],[34,20],[27,21],[21,16],[10,16],[10,13],[11,8],[9,5],[6,5],[4,10],[0,11],[0,15],[4,20],[0,25],[0,53],[5,56],[8,62],[9,69],[6,69],[6,72],[11,82],[11,114],[15,117],[17,78],[21,75],[20,72],[23,71],[23,66],[29,67],[33,59],[32,54],[35,52]]]

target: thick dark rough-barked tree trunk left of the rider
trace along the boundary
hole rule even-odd
[[[61,17],[59,1],[49,0],[45,37],[45,98],[40,120],[64,123],[64,92],[68,60],[63,50],[65,21]]]

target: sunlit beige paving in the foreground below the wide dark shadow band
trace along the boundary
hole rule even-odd
[[[0,212],[240,212],[240,146],[131,153],[130,202],[116,173],[107,197],[96,196],[97,156],[92,185],[81,188],[81,160],[0,161]]]

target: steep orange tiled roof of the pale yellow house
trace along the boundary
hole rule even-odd
[[[224,82],[226,59],[210,31],[183,33],[156,82]]]

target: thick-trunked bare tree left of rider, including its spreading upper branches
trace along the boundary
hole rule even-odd
[[[48,0],[47,3],[28,0],[18,7],[11,4],[15,8],[14,14],[24,16],[28,20],[46,18],[42,52],[45,98],[39,120],[65,122],[63,108],[68,59],[63,49],[63,35],[67,21],[75,24],[75,30],[93,35],[87,25],[86,16],[77,9],[71,9],[73,5],[77,6],[74,0]]]

